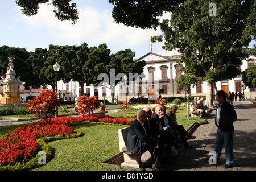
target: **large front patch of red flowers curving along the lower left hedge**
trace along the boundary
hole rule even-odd
[[[25,128],[19,127],[13,133],[3,135],[0,140],[0,166],[26,162],[33,158],[38,148],[36,139],[55,135],[65,136],[72,133],[72,128],[66,125],[41,126],[34,123],[34,125],[27,125]]]

